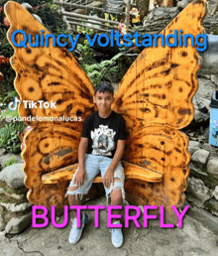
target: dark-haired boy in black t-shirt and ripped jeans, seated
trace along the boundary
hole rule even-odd
[[[70,205],[79,205],[82,194],[88,193],[93,179],[101,173],[106,196],[110,194],[112,205],[122,205],[124,200],[124,169],[120,162],[125,148],[126,125],[124,118],[111,110],[114,90],[109,82],[100,82],[93,100],[98,111],[87,116],[78,147],[78,169],[68,191]],[[85,154],[87,151],[87,154]],[[80,194],[81,196],[77,196]],[[80,197],[80,198],[79,198]],[[81,227],[77,227],[76,211],[69,233],[69,243],[75,244],[81,236],[88,216],[82,212]],[[114,211],[114,214],[120,211]],[[116,221],[116,220],[115,220]],[[117,220],[114,224],[119,224]],[[121,228],[112,228],[111,240],[115,247],[123,244]]]

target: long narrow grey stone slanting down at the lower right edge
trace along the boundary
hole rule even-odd
[[[215,234],[218,234],[218,217],[211,215],[211,213],[205,209],[197,207],[190,207],[187,214],[200,221],[206,228],[210,229]]]

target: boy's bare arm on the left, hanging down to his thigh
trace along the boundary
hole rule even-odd
[[[78,146],[78,172],[75,176],[74,183],[80,187],[83,185],[83,179],[87,180],[85,173],[85,153],[88,147],[88,138],[81,137]]]

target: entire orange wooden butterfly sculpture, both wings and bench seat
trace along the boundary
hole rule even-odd
[[[194,38],[201,34],[207,3],[190,3],[161,32],[164,37],[182,30]],[[23,30],[33,41],[47,29],[19,4],[8,2],[8,33]],[[18,35],[16,40],[23,40]],[[13,46],[14,47],[14,46]],[[21,97],[23,117],[76,117],[82,121],[26,121],[33,127],[26,136],[25,184],[33,204],[63,207],[66,187],[77,167],[77,148],[84,118],[95,111],[93,85],[62,48],[16,48],[12,65],[15,87]],[[127,199],[136,204],[180,206],[189,174],[188,139],[179,131],[194,113],[192,97],[197,90],[196,73],[201,59],[195,48],[145,49],[123,77],[113,109],[126,120],[129,137],[123,157]],[[24,100],[56,102],[56,108],[25,108]],[[99,179],[96,182],[100,182]]]

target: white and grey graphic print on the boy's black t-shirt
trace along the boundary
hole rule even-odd
[[[109,129],[108,125],[99,125],[91,131],[92,154],[95,156],[112,156],[112,150],[115,149],[114,136],[116,132]]]

